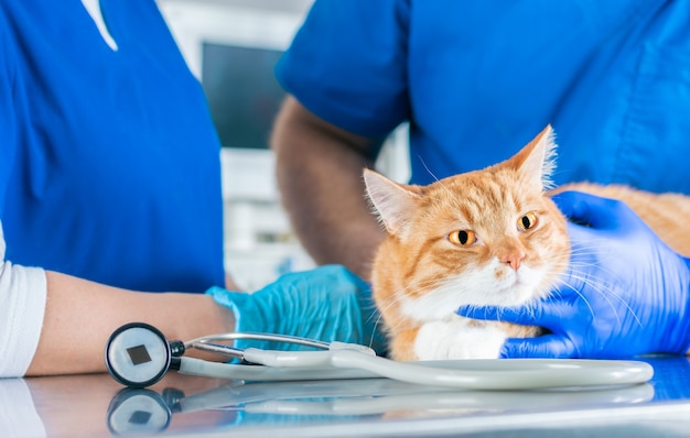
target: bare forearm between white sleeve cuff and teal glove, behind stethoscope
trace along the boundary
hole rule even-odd
[[[54,272],[46,272],[46,280],[41,339],[26,375],[105,371],[108,337],[131,321],[183,340],[235,326],[233,314],[206,295],[125,291]]]

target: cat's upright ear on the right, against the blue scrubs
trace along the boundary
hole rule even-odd
[[[532,139],[510,162],[535,185],[543,190],[553,187],[551,174],[556,168],[556,134],[550,124]]]

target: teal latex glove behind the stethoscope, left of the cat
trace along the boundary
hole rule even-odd
[[[212,287],[216,303],[233,310],[236,331],[299,336],[386,350],[370,287],[339,265],[290,273],[254,294]],[[299,349],[285,343],[239,340],[238,348]]]

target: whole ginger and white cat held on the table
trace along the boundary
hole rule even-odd
[[[461,305],[519,306],[547,296],[570,260],[565,218],[549,195],[617,198],[677,252],[690,198],[578,183],[550,190],[553,131],[547,127],[509,160],[428,186],[365,169],[367,196],[388,237],[374,260],[374,299],[396,360],[497,358],[506,338],[539,327],[457,316]]]

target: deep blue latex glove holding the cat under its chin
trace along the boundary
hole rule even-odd
[[[553,200],[575,223],[563,285],[524,308],[457,313],[551,331],[508,339],[504,358],[622,358],[684,354],[690,348],[690,269],[625,204],[568,191]]]

